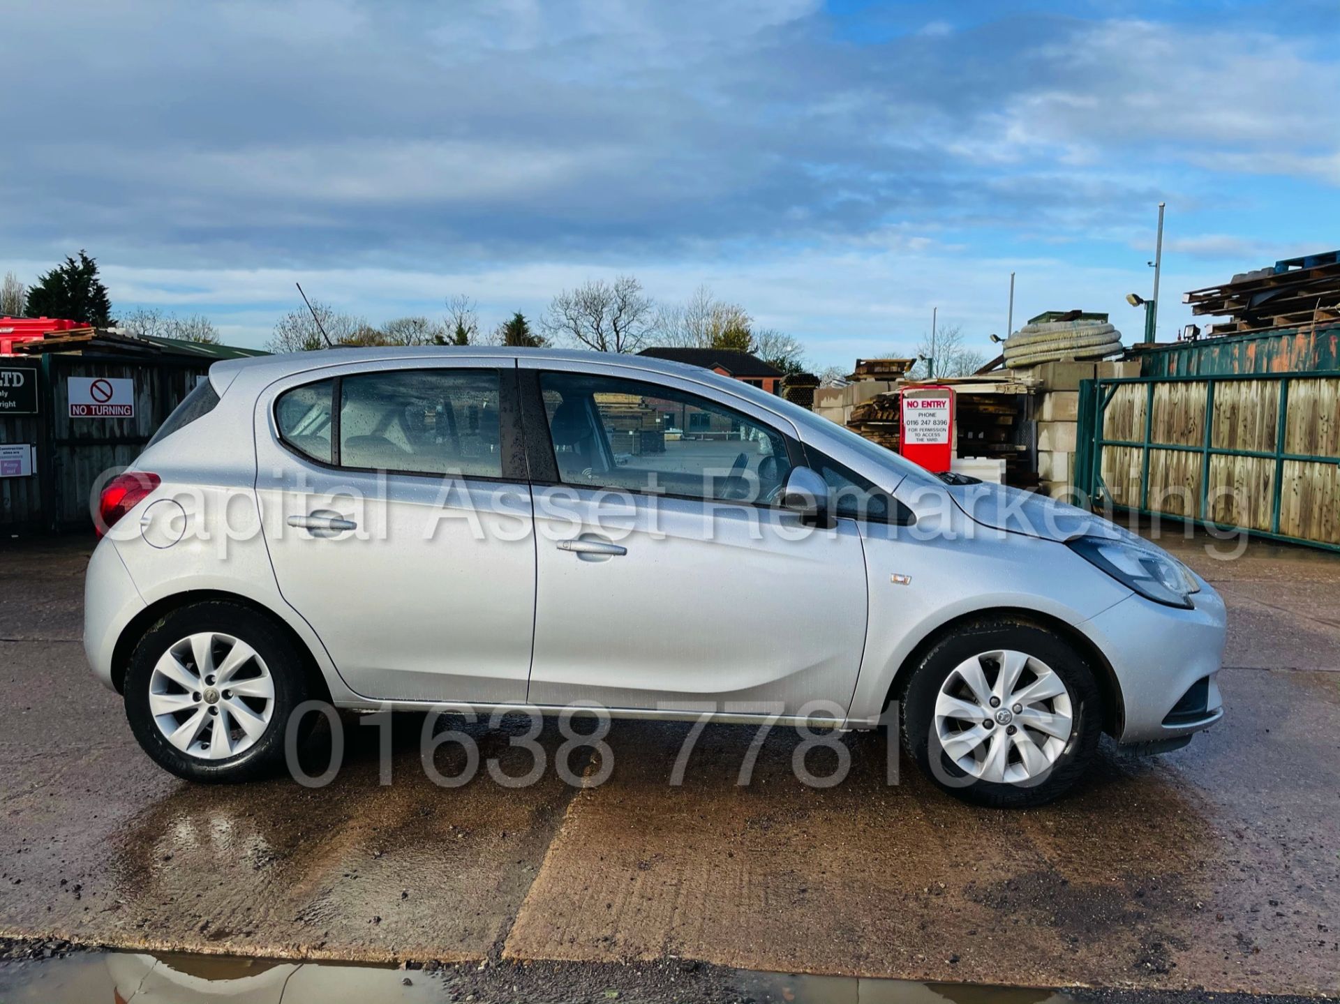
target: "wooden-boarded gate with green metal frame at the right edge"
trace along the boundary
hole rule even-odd
[[[1340,374],[1084,381],[1075,487],[1134,511],[1340,551]]]

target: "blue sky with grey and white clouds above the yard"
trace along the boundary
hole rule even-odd
[[[1335,3],[7,4],[0,272],[263,344],[631,272],[816,366],[1340,245]]]

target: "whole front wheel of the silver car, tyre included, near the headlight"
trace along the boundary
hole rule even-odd
[[[1087,769],[1103,713],[1067,639],[992,618],[941,638],[902,704],[903,743],[945,791],[996,807],[1051,802]]]

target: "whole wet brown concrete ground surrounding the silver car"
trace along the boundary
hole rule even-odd
[[[1336,993],[1340,559],[1253,544],[1218,560],[1203,544],[1170,546],[1230,607],[1227,721],[1163,759],[1104,745],[1073,796],[1030,812],[962,806],[906,760],[887,784],[876,735],[843,740],[850,776],[824,790],[795,779],[799,739],[775,731],[738,787],[753,731],[709,728],[670,787],[689,727],[643,723],[614,724],[612,776],[583,791],[555,775],[552,724],[539,783],[508,788],[481,769],[437,787],[417,716],[397,721],[390,786],[375,731],[350,723],[346,767],[326,788],[192,787],[139,752],[119,700],[84,668],[87,543],[11,547],[0,934],[476,968],[702,962]],[[508,740],[524,729],[466,731],[520,775],[529,755]],[[587,755],[574,767],[594,769]],[[817,752],[809,768],[831,763]],[[446,751],[438,767],[460,757]]]

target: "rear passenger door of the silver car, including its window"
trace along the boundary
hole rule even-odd
[[[284,599],[381,700],[525,698],[535,602],[513,361],[338,367],[261,395],[257,495]]]

